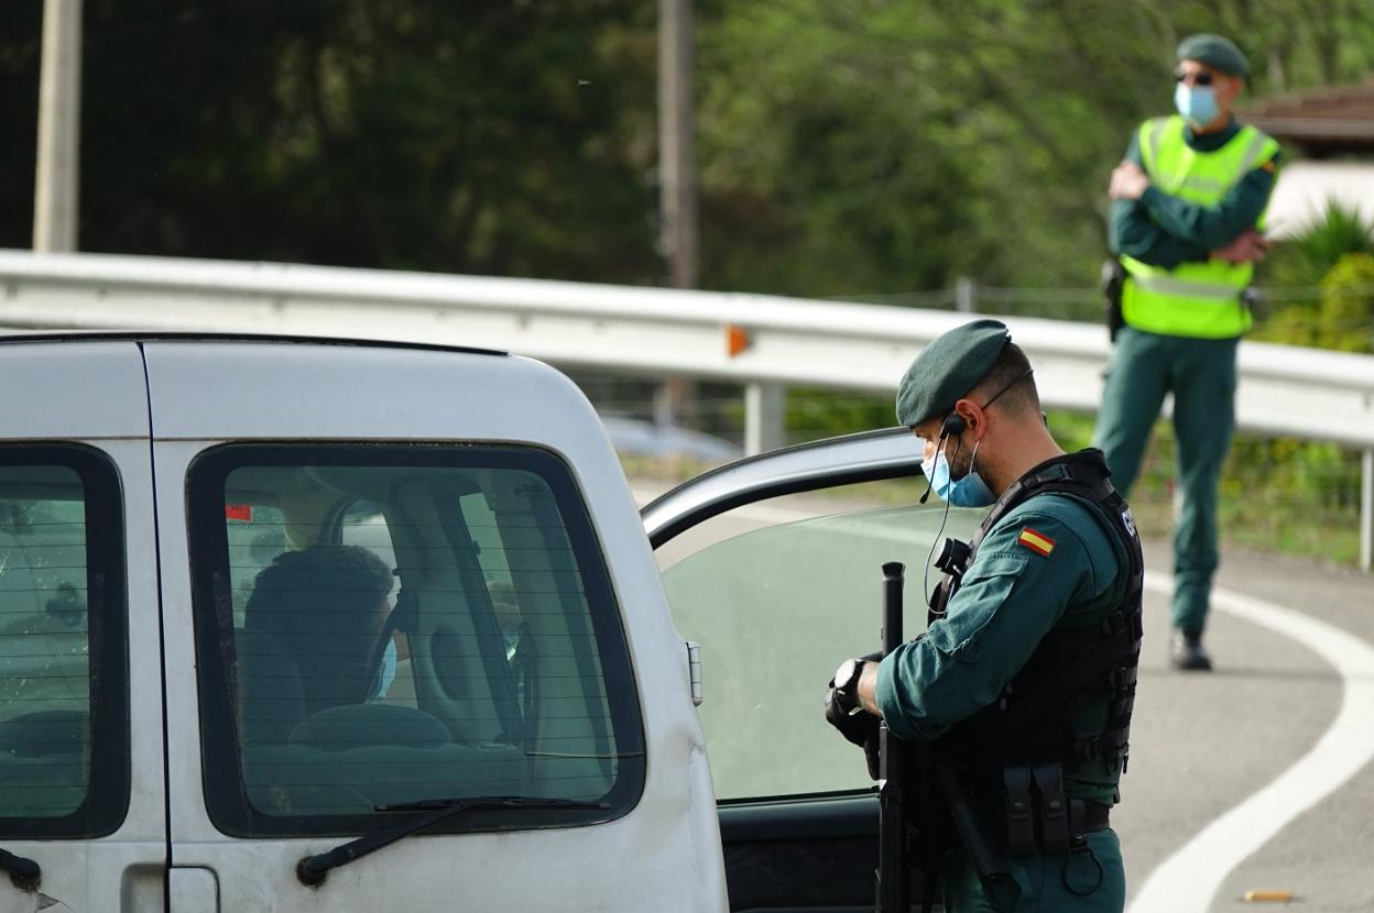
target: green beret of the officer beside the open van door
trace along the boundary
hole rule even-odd
[[[897,386],[897,421],[910,428],[949,412],[992,369],[1009,342],[1007,325],[989,319],[933,339]]]

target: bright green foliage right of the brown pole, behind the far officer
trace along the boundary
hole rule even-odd
[[[1191,32],[1256,95],[1374,66],[1363,0],[778,0],[702,22],[705,281],[841,297],[1083,287],[1131,128]],[[1047,295],[1044,313],[1063,308]],[[1074,312],[1077,313],[1077,312]]]

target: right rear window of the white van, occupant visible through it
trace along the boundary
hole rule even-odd
[[[620,611],[567,467],[517,446],[229,445],[188,478],[206,799],[225,833],[591,824],[643,788]],[[583,807],[581,803],[591,803]]]

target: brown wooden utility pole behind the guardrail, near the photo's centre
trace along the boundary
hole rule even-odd
[[[698,277],[694,44],[691,0],[658,0],[658,243],[673,288],[695,288]],[[654,423],[679,424],[691,395],[686,378],[669,376],[655,397]]]

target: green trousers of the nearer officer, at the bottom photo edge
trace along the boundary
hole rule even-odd
[[[973,862],[955,850],[945,861],[945,913],[1121,913],[1125,868],[1116,831],[1088,835],[1084,850],[1014,855],[1010,879],[982,884]]]

